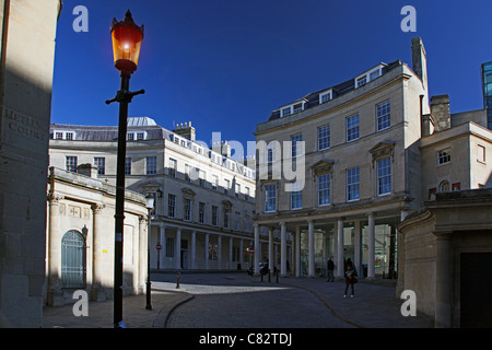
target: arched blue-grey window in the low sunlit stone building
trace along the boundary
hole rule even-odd
[[[85,240],[75,230],[61,238],[61,287],[85,288]]]

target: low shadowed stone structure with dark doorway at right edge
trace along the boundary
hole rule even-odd
[[[490,188],[437,192],[398,226],[398,292],[413,290],[436,327],[491,326],[491,211]],[[464,264],[470,257],[476,264]]]

